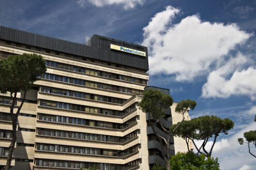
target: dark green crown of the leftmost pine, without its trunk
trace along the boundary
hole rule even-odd
[[[46,72],[46,62],[40,55],[12,55],[0,60],[0,92],[26,91],[44,72]]]

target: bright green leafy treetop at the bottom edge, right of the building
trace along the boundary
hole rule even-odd
[[[206,158],[204,155],[194,154],[192,151],[178,153],[170,159],[172,170],[182,169],[219,169],[218,158]]]

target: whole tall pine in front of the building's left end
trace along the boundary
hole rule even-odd
[[[46,72],[46,62],[40,55],[23,54],[12,55],[7,59],[0,60],[0,92],[10,92],[12,104],[10,106],[10,116],[12,120],[12,140],[9,146],[9,153],[5,169],[10,169],[13,148],[16,143],[16,129],[20,110],[23,106],[26,92],[38,80],[38,76]],[[16,113],[13,113],[14,105],[17,101],[17,93],[24,91],[20,106]]]

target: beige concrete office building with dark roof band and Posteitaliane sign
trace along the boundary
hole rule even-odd
[[[47,72],[27,92],[12,169],[149,169],[157,162],[137,106],[148,87],[146,47],[98,35],[84,45],[0,26],[0,58],[23,53],[41,55]],[[9,95],[0,94],[2,167],[11,141]],[[174,152],[183,147],[174,144]]]

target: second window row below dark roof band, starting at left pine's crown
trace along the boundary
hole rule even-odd
[[[46,65],[51,66],[51,67],[56,67],[59,69],[80,72],[80,73],[84,73],[84,74],[88,74],[88,75],[102,76],[102,77],[125,80],[125,81],[130,81],[130,82],[141,83],[141,84],[147,84],[147,80],[145,80],[145,79],[124,76],[124,75],[119,75],[119,74],[114,74],[114,73],[109,73],[109,72],[102,72],[99,70],[88,69],[85,67],[74,66],[74,65],[69,65],[69,64],[59,63],[59,62],[53,62],[53,61],[46,60]]]

